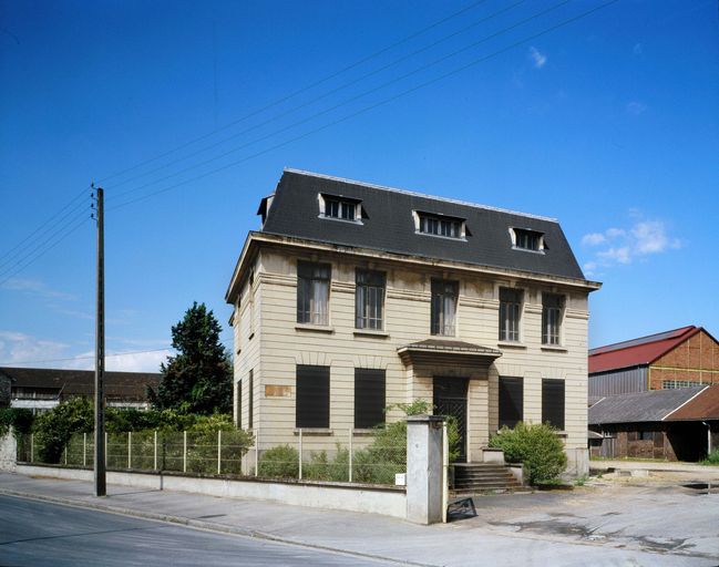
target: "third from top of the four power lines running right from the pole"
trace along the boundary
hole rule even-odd
[[[234,154],[234,153],[236,153],[236,152],[238,152],[238,151],[240,151],[240,150],[244,150],[245,147],[248,147],[248,146],[250,146],[250,145],[257,144],[258,142],[264,142],[265,140],[271,138],[271,137],[274,137],[274,136],[276,136],[276,135],[278,135],[278,134],[281,134],[281,133],[284,133],[284,132],[287,132],[287,131],[289,131],[289,130],[291,130],[291,128],[294,128],[294,127],[297,127],[297,126],[300,126],[300,125],[302,125],[302,124],[306,124],[307,122],[310,122],[310,121],[312,121],[312,120],[315,120],[315,118],[317,118],[317,117],[319,117],[319,116],[322,116],[322,115],[325,115],[325,114],[328,114],[328,113],[330,113],[330,112],[332,112],[332,111],[335,111],[335,110],[337,110],[337,109],[340,109],[340,107],[342,107],[342,106],[346,106],[347,104],[350,104],[350,103],[352,103],[352,102],[355,102],[355,101],[358,101],[358,100],[360,100],[360,99],[363,99],[364,96],[367,96],[367,95],[369,95],[369,94],[372,94],[372,93],[374,93],[374,92],[377,92],[377,91],[380,91],[380,90],[382,90],[382,89],[386,89],[386,87],[388,87],[388,86],[390,86],[390,85],[392,85],[392,84],[394,84],[394,83],[399,83],[400,81],[403,81],[404,79],[408,79],[409,76],[415,75],[417,73],[420,73],[420,72],[422,72],[422,71],[425,71],[425,70],[428,70],[428,69],[430,69],[430,68],[432,68],[432,66],[435,66],[435,65],[438,65],[438,64],[440,64],[440,63],[442,63],[442,62],[444,62],[444,61],[448,61],[449,59],[452,59],[452,58],[454,58],[454,56],[456,56],[456,55],[459,55],[459,54],[461,54],[461,53],[463,53],[463,52],[465,52],[465,51],[469,51],[469,50],[471,50],[471,49],[474,49],[474,48],[476,48],[477,45],[480,45],[480,44],[482,44],[482,43],[484,43],[484,42],[486,42],[486,41],[490,41],[490,40],[492,40],[492,39],[494,39],[494,38],[497,38],[497,37],[502,35],[502,34],[504,34],[504,33],[506,33],[506,32],[509,32],[509,31],[512,31],[512,30],[514,30],[514,29],[516,29],[516,28],[518,28],[518,27],[521,27],[521,25],[524,25],[525,23],[528,23],[528,22],[531,22],[531,21],[533,21],[533,20],[536,20],[537,18],[541,18],[541,17],[543,17],[543,16],[545,16],[545,14],[547,14],[547,13],[549,13],[549,12],[552,12],[552,11],[558,9],[558,8],[561,8],[561,7],[563,7],[563,6],[567,4],[567,3],[569,3],[571,1],[572,1],[572,0],[562,0],[561,2],[558,2],[558,3],[556,3],[556,4],[553,4],[552,7],[549,7],[549,8],[547,8],[547,9],[541,10],[541,11],[538,11],[538,12],[536,12],[536,13],[534,13],[534,14],[527,17],[527,18],[524,18],[523,20],[520,20],[518,22],[515,22],[515,23],[513,23],[512,25],[509,25],[509,27],[506,27],[506,28],[504,28],[504,29],[502,29],[502,30],[500,30],[500,31],[497,31],[497,32],[491,33],[490,35],[485,35],[484,38],[482,38],[482,39],[480,39],[480,40],[477,40],[477,41],[474,41],[474,42],[470,43],[469,45],[465,45],[465,47],[463,47],[463,48],[461,48],[461,49],[458,49],[458,50],[455,50],[455,51],[452,51],[451,53],[449,53],[449,54],[446,54],[446,55],[443,55],[443,56],[441,56],[441,58],[439,58],[439,59],[435,59],[434,61],[432,61],[432,62],[430,62],[430,63],[427,63],[427,64],[420,65],[419,68],[417,68],[417,69],[414,69],[414,70],[412,70],[412,71],[410,71],[410,72],[408,72],[408,73],[404,73],[404,74],[402,74],[402,75],[400,75],[400,76],[398,76],[398,78],[391,79],[390,81],[386,81],[384,83],[380,84],[379,86],[374,86],[374,87],[372,87],[372,89],[369,89],[369,90],[367,90],[367,91],[364,91],[364,92],[362,92],[362,93],[360,93],[360,94],[357,94],[357,95],[355,95],[355,96],[351,96],[351,97],[349,97],[349,99],[347,99],[347,100],[345,100],[345,101],[342,101],[342,102],[340,102],[340,103],[338,103],[338,104],[335,104],[335,105],[332,105],[332,106],[329,106],[328,109],[325,109],[325,110],[322,110],[322,111],[320,111],[320,112],[318,112],[318,113],[315,113],[315,114],[312,114],[312,115],[310,115],[310,116],[308,116],[308,117],[306,117],[306,118],[302,118],[302,120],[300,120],[300,121],[294,122],[294,123],[289,124],[288,126],[284,126],[284,127],[281,127],[281,128],[279,128],[279,130],[276,130],[276,131],[274,131],[274,132],[270,132],[269,134],[266,134],[266,135],[264,135],[264,136],[260,136],[260,137],[258,137],[258,138],[255,138],[255,140],[253,140],[253,141],[250,141],[250,142],[246,142],[246,143],[244,143],[244,144],[242,144],[242,145],[239,145],[239,146],[236,146],[236,147],[234,147],[234,148],[232,148],[232,150],[229,150],[229,151],[227,151],[227,152],[224,152],[224,153],[222,153],[222,154],[219,154],[219,155],[217,155],[217,156],[214,156],[214,157],[210,157],[210,158],[205,159],[205,161],[203,161],[203,162],[199,162],[199,163],[196,163],[196,164],[189,165],[189,166],[187,166],[187,167],[184,167],[183,169],[179,169],[179,171],[177,171],[177,172],[175,172],[175,173],[172,173],[172,174],[170,174],[170,175],[165,175],[164,177],[161,177],[160,179],[155,179],[155,181],[153,181],[153,182],[145,183],[145,184],[140,185],[138,187],[135,187],[135,188],[133,188],[133,189],[129,189],[129,190],[125,190],[125,192],[119,193],[119,194],[116,194],[116,195],[113,196],[113,199],[116,199],[116,198],[122,197],[122,196],[125,196],[125,195],[130,195],[130,194],[132,194],[132,193],[137,193],[138,190],[142,190],[142,189],[144,189],[144,188],[146,188],[146,187],[150,187],[150,186],[152,186],[152,185],[156,185],[157,183],[162,183],[162,182],[165,182],[165,181],[172,179],[172,178],[174,178],[174,177],[177,177],[178,175],[182,175],[182,174],[184,174],[184,173],[187,173],[187,172],[191,172],[191,171],[193,171],[193,169],[196,169],[197,167],[202,167],[202,166],[204,166],[204,165],[208,165],[208,164],[210,164],[210,163],[213,163],[213,162],[216,162],[217,159],[222,159],[223,157],[226,157],[226,156],[228,156],[228,155],[230,155],[230,154]],[[503,11],[506,11],[506,9],[504,9],[504,10],[502,10],[502,11],[500,11],[500,12],[496,12],[495,14],[492,14],[492,16],[490,16],[490,17],[486,18],[486,19],[493,18],[494,16],[496,16],[497,13],[501,13],[501,12],[503,12]],[[271,122],[271,120],[270,120],[270,121],[266,121],[265,123],[261,123],[260,125],[265,125],[265,124],[267,124],[267,123],[269,123],[269,122]],[[210,172],[210,173],[212,173],[212,172]]]

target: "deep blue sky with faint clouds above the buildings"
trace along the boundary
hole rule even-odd
[[[92,367],[91,182],[107,351],[134,353],[107,368],[156,370],[194,300],[230,339],[226,286],[285,166],[558,218],[604,282],[590,346],[719,333],[717,3],[543,33],[603,4],[0,2],[0,362]]]

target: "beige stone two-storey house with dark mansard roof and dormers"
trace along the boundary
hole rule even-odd
[[[331,451],[428,401],[461,460],[553,423],[586,467],[588,295],[553,220],[286,169],[249,233],[234,306],[235,420],[259,451]]]

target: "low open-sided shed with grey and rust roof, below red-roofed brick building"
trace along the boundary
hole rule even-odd
[[[592,456],[700,461],[719,446],[719,385],[606,396],[588,422]]]

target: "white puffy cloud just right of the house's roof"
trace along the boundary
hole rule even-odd
[[[629,228],[612,227],[584,235],[582,245],[595,247],[594,255],[584,264],[588,276],[596,275],[599,268],[628,265],[637,258],[681,248],[681,241],[668,235],[664,220],[645,219],[636,210],[630,217],[634,224]]]

